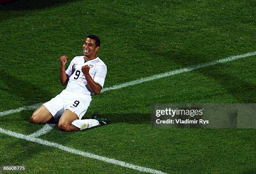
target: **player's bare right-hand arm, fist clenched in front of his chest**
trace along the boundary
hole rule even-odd
[[[88,65],[85,65],[82,67],[82,72],[84,74],[84,77],[87,81],[87,84],[89,85],[90,89],[92,90],[93,94],[98,95],[101,91],[101,86],[94,82],[92,77],[89,74],[90,67]]]

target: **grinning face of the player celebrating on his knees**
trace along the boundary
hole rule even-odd
[[[92,38],[85,38],[83,44],[83,54],[88,58],[94,58],[99,50],[99,46],[96,46],[95,40]]]

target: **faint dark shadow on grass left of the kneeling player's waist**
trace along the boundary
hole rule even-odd
[[[44,90],[39,84],[36,85],[27,80],[21,80],[7,72],[0,72],[0,74],[0,81],[5,84],[3,87],[0,86],[0,90],[9,95],[15,95],[19,100],[18,102],[24,105],[35,104],[38,101],[44,102],[54,97],[51,91]]]

